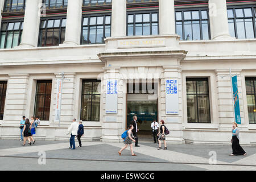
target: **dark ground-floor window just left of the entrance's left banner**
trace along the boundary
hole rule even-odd
[[[81,120],[100,121],[101,82],[98,80],[82,81]]]

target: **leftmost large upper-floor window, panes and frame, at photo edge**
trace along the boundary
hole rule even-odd
[[[19,46],[22,39],[23,21],[2,22],[0,32],[0,48]]]

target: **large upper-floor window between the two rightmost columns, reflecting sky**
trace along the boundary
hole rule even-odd
[[[209,16],[207,10],[176,10],[176,34],[180,40],[209,40]]]

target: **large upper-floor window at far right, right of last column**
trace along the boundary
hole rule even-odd
[[[228,7],[229,33],[237,39],[256,38],[256,7]]]

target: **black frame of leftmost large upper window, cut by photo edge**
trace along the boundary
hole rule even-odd
[[[16,23],[16,22],[19,22],[19,39],[18,39],[18,46],[19,44],[21,43],[20,42],[20,39],[22,39],[22,31],[23,31],[23,28],[21,29],[22,27],[22,23],[24,23],[24,19],[13,19],[13,20],[2,20],[1,22],[1,30],[0,30],[0,43],[1,43],[1,38],[2,38],[2,27],[3,27],[3,23],[7,23],[7,26],[6,26],[6,30],[5,30],[5,44],[3,46],[2,49],[6,49],[6,43],[7,43],[7,32],[9,31],[14,31],[14,30],[8,30],[8,26],[9,26],[9,23]],[[14,34],[13,34],[13,37],[14,37]],[[13,48],[13,42],[11,42],[11,48]]]

